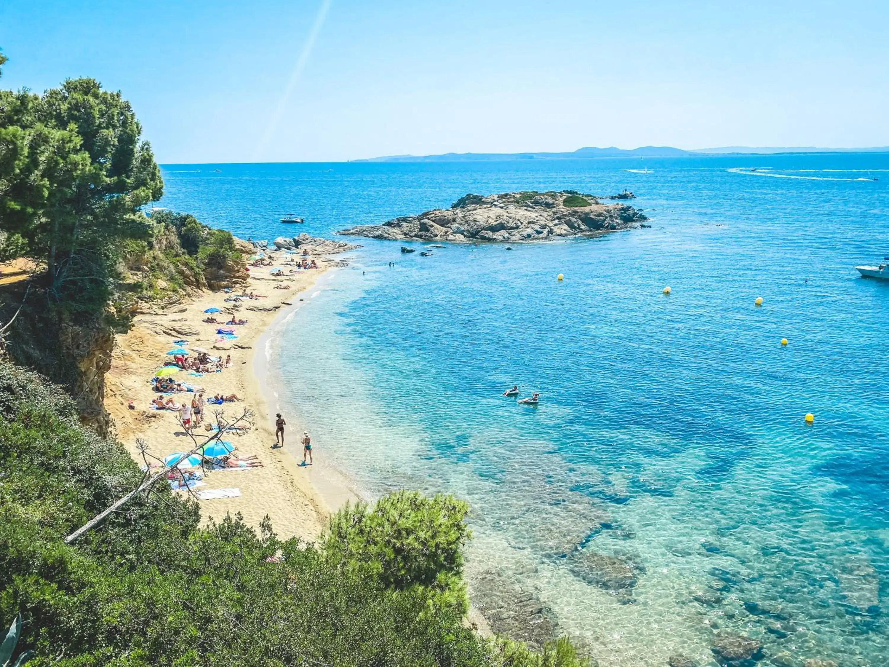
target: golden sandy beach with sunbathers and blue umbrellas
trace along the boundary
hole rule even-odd
[[[277,265],[284,261],[285,255],[281,251],[272,251],[268,257]],[[205,472],[204,484],[196,487],[196,492],[236,488],[240,495],[199,500],[204,522],[211,518],[220,520],[227,513],[240,513],[247,524],[259,526],[260,521],[268,515],[280,537],[295,535],[314,540],[323,529],[329,512],[349,497],[348,491],[339,488],[336,478],[330,474],[324,475],[321,483],[325,493],[318,492],[313,483],[313,473],[317,467],[300,465],[303,428],[297,420],[284,414],[287,420],[286,446],[271,447],[275,443],[275,414],[269,410],[268,383],[265,382],[263,363],[264,343],[260,339],[263,334],[268,338],[268,327],[276,319],[299,308],[300,301],[306,298],[307,288],[314,285],[316,279],[334,264],[330,258],[316,256],[315,259],[320,269],[287,274],[285,277],[269,276],[266,267],[251,269],[251,277],[243,291],[238,288],[232,293],[202,292],[168,309],[152,309],[137,315],[132,329],[117,336],[111,369],[106,376],[105,406],[115,420],[118,439],[140,463],[143,463],[143,459],[137,440],[144,441],[148,454],[156,459],[193,447],[191,438],[180,425],[178,412],[154,410],[150,406],[150,401],[158,394],[152,390],[149,381],[164,361],[172,358],[166,354],[167,351],[180,347],[173,341],[188,340],[182,347],[200,348],[212,356],[225,358],[231,355],[231,365],[219,373],[195,376],[183,370],[173,375],[177,382],[203,388],[204,398],[221,393],[236,394],[241,399],[221,406],[206,406],[204,422],[213,421],[216,409],[221,409],[229,422],[242,414],[244,408],[253,414],[253,423],[246,433],[233,434],[225,439],[236,446],[236,454],[255,455],[263,467]],[[280,265],[289,269],[286,263]],[[276,289],[276,285],[285,285],[287,289]],[[225,301],[235,293],[263,294],[264,297],[240,303]],[[216,333],[220,325],[204,323],[204,318],[208,317],[204,310],[213,307],[222,309],[216,314],[220,322],[227,321],[232,312],[236,313],[236,317],[247,320],[246,325],[233,327],[236,339],[221,339]],[[172,396],[180,403],[183,399],[190,402],[193,394],[181,392]],[[135,409],[128,407],[129,401],[132,401]],[[199,442],[210,435],[203,428],[195,429],[194,433]]]

